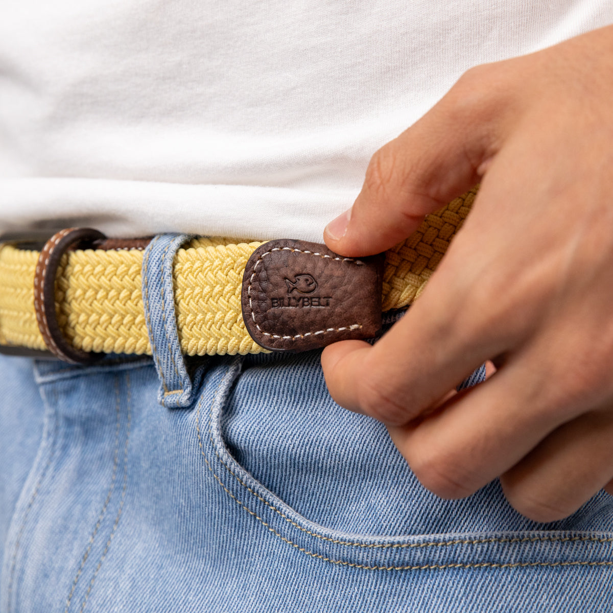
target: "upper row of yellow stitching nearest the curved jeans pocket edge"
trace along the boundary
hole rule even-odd
[[[221,381],[219,383],[221,385]],[[218,386],[219,387],[219,386]],[[215,392],[217,394],[217,390]],[[213,399],[215,400],[215,399]],[[363,547],[364,549],[419,549],[421,547],[447,547],[453,545],[479,545],[479,544],[487,544],[487,543],[542,543],[542,542],[555,542],[555,543],[572,543],[572,542],[590,542],[590,543],[613,543],[613,537],[611,538],[598,538],[596,536],[525,536],[525,537],[516,537],[516,538],[484,538],[484,539],[454,539],[451,541],[428,541],[426,543],[354,543],[352,541],[341,541],[339,539],[333,539],[329,536],[319,535],[316,532],[308,530],[304,528],[300,524],[294,522],[294,520],[287,517],[283,511],[280,511],[278,508],[270,504],[265,498],[262,498],[259,493],[255,492],[251,487],[249,487],[237,474],[232,471],[229,466],[221,459],[219,455],[215,441],[213,441],[213,435],[211,433],[211,421],[213,418],[213,403],[211,403],[211,413],[209,415],[208,422],[208,433],[211,441],[211,445],[213,446],[213,451],[215,451],[215,455],[224,468],[242,485],[249,493],[253,494],[257,500],[264,503],[268,508],[272,511],[275,511],[278,515],[283,517],[286,522],[289,522],[295,528],[302,530],[310,536],[314,536],[315,538],[319,538],[322,541],[329,541],[330,543],[337,545],[344,545],[348,547]],[[198,426],[198,421],[196,417],[196,425]],[[200,437],[200,430],[198,429],[198,436]]]

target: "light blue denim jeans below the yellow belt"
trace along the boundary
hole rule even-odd
[[[613,611],[613,497],[440,500],[318,351],[184,360],[179,242],[146,254],[153,359],[0,359],[2,613]]]

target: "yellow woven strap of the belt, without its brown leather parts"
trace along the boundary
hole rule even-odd
[[[476,189],[450,202],[386,253],[383,310],[406,307],[421,292],[473,204]],[[196,238],[173,267],[181,349],[189,356],[265,351],[241,313],[245,264],[261,242]],[[45,349],[34,311],[38,251],[0,245],[0,344]],[[56,276],[59,326],[83,351],[151,354],[141,293],[143,252],[83,249],[64,254]]]

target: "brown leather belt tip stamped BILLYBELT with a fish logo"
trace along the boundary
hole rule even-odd
[[[326,245],[283,238],[245,266],[245,328],[271,351],[307,351],[381,329],[383,256],[356,259]]]

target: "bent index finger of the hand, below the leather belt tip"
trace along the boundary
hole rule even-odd
[[[462,232],[468,232],[462,242],[470,243],[470,228]],[[441,262],[419,300],[374,346],[343,341],[324,349],[324,376],[339,405],[388,425],[406,424],[506,350],[500,330],[481,326],[470,290],[477,280],[466,278],[464,268],[463,275],[456,272],[465,249],[454,246],[448,265]]]

